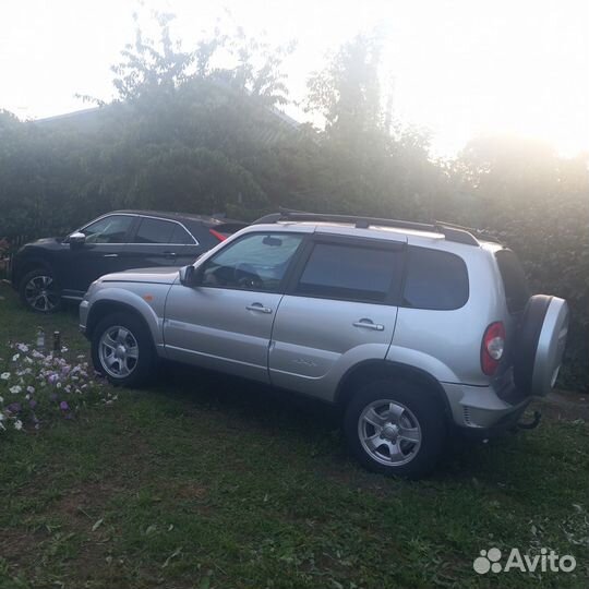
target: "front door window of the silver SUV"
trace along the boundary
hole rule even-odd
[[[228,244],[207,260],[203,286],[277,291],[302,236],[255,233]]]

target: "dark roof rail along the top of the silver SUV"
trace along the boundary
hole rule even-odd
[[[305,213],[302,211],[291,211],[280,208],[279,213],[271,213],[253,221],[252,225],[273,224],[278,221],[318,221],[318,223],[346,223],[353,224],[358,229],[368,229],[371,226],[395,227],[398,229],[413,229],[418,231],[432,231],[442,233],[448,241],[466,243],[467,245],[479,245],[477,238],[470,230],[445,224],[441,221],[413,223],[398,219],[382,219],[378,217],[362,217],[357,215],[330,215],[323,213]]]

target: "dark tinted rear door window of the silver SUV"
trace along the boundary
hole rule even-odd
[[[296,292],[352,301],[384,302],[400,277],[401,252],[316,243]]]

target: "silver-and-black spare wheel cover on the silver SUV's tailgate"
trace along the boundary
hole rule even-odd
[[[514,380],[526,395],[546,395],[554,386],[568,333],[568,305],[564,299],[530,298],[515,341]]]

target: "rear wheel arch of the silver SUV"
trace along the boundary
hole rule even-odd
[[[366,360],[350,368],[339,381],[334,397],[335,404],[344,409],[362,384],[383,378],[400,377],[423,386],[440,402],[446,419],[452,420],[452,409],[447,396],[437,378],[422,369],[390,360]]]

